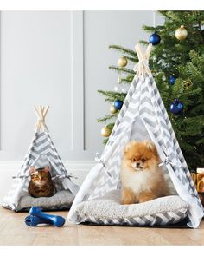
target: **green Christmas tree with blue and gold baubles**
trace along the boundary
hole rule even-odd
[[[190,169],[204,165],[204,11],[159,11],[164,16],[163,25],[143,26],[150,33],[153,50],[150,69],[156,80],[169,119],[175,130],[182,153]],[[118,86],[112,91],[99,90],[105,101],[111,103],[110,115],[99,122],[108,123],[101,130],[108,141],[128,87],[135,75],[129,63],[137,63],[135,50],[110,45],[123,56],[118,66]]]

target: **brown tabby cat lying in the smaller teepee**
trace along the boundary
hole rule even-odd
[[[30,181],[28,191],[33,197],[50,197],[54,195],[55,187],[49,173],[49,167],[35,169],[29,168]]]

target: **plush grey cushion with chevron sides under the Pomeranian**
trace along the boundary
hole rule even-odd
[[[186,217],[188,203],[178,195],[157,198],[141,204],[121,205],[120,191],[112,190],[105,196],[81,202],[76,212],[79,222],[102,225],[164,226],[175,224]]]

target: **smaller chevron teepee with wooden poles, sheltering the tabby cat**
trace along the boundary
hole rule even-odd
[[[15,211],[29,210],[29,207],[33,206],[40,206],[49,210],[69,208],[71,207],[74,196],[79,190],[79,187],[71,181],[73,175],[67,173],[54,147],[54,143],[48,134],[48,127],[45,123],[48,108],[49,107],[41,106],[34,107],[38,118],[35,126],[35,136],[25,155],[22,167],[18,174],[13,177],[13,186],[3,199],[3,207]],[[35,167],[35,169],[47,166],[50,167],[50,174],[56,188],[54,196],[49,198],[32,198],[29,196],[29,167],[31,166]],[[63,197],[63,199],[61,197]],[[43,201],[41,202],[41,200]]]

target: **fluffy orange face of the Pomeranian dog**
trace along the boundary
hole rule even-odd
[[[131,141],[124,148],[125,167],[132,171],[150,170],[157,167],[159,156],[152,141]]]

